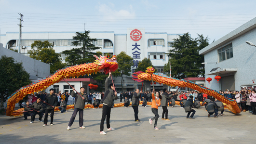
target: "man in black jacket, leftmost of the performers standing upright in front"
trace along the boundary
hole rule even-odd
[[[50,89],[50,93],[47,94],[44,98],[44,102],[43,103],[48,103],[49,105],[46,106],[45,109],[45,116],[44,116],[44,121],[43,121],[43,126],[47,125],[48,122],[48,113],[51,113],[51,125],[53,124],[54,121],[54,107],[57,106],[58,104],[58,97],[57,95],[54,94],[54,89]],[[52,105],[52,106],[50,106]]]

